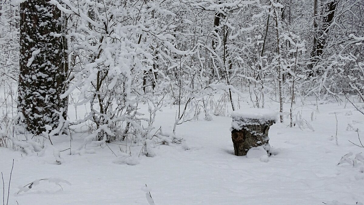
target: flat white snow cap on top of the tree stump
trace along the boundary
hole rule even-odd
[[[240,109],[232,112],[233,118],[248,118],[248,119],[259,119],[259,120],[273,120],[277,121],[277,113],[273,110],[264,108],[249,108]]]

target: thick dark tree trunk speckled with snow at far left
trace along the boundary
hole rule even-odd
[[[61,12],[48,0],[20,4],[19,111],[28,131],[58,126],[64,105],[64,52]]]

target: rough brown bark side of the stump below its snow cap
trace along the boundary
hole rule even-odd
[[[273,125],[274,121],[261,122],[258,119],[247,119],[246,124],[241,130],[233,129],[231,138],[234,144],[234,153],[237,156],[244,156],[252,147],[263,146],[269,153],[269,127]]]

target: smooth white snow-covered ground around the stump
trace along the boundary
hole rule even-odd
[[[349,152],[353,153],[351,158],[364,152],[364,148],[348,141],[359,143],[356,128],[364,141],[364,115],[344,104],[319,101],[316,105],[316,100],[297,103],[295,113],[302,114],[302,123],[307,121],[310,126],[290,128],[288,117],[285,123],[273,125],[269,142],[275,155],[268,158],[259,154],[235,156],[229,131],[232,119],[218,116],[213,116],[213,121],[200,119],[178,125],[176,134],[185,144],[158,146],[155,157],[138,157],[141,146],[132,147],[133,158],[129,159],[136,165],[114,163],[123,162],[115,155],[124,156],[122,151],[128,147],[111,143],[110,149],[89,147],[88,153],[68,155],[69,150],[63,151],[61,165],[55,163],[52,149],[46,149],[40,157],[0,147],[5,204],[12,159],[11,205],[363,203],[363,161],[356,161],[354,167],[338,163]],[[269,106],[278,108],[274,103],[266,108]],[[158,113],[155,122],[164,131],[173,129],[176,108],[166,106]],[[74,134],[72,147],[82,145],[85,135]],[[58,137],[52,141],[60,150],[69,148],[70,139]],[[43,180],[28,192],[17,194],[32,181],[49,177],[71,185],[60,182],[61,188]]]

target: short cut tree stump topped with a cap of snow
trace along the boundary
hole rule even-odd
[[[231,138],[234,153],[245,156],[252,147],[262,146],[270,155],[268,131],[277,122],[276,112],[268,109],[242,109],[233,111]]]

